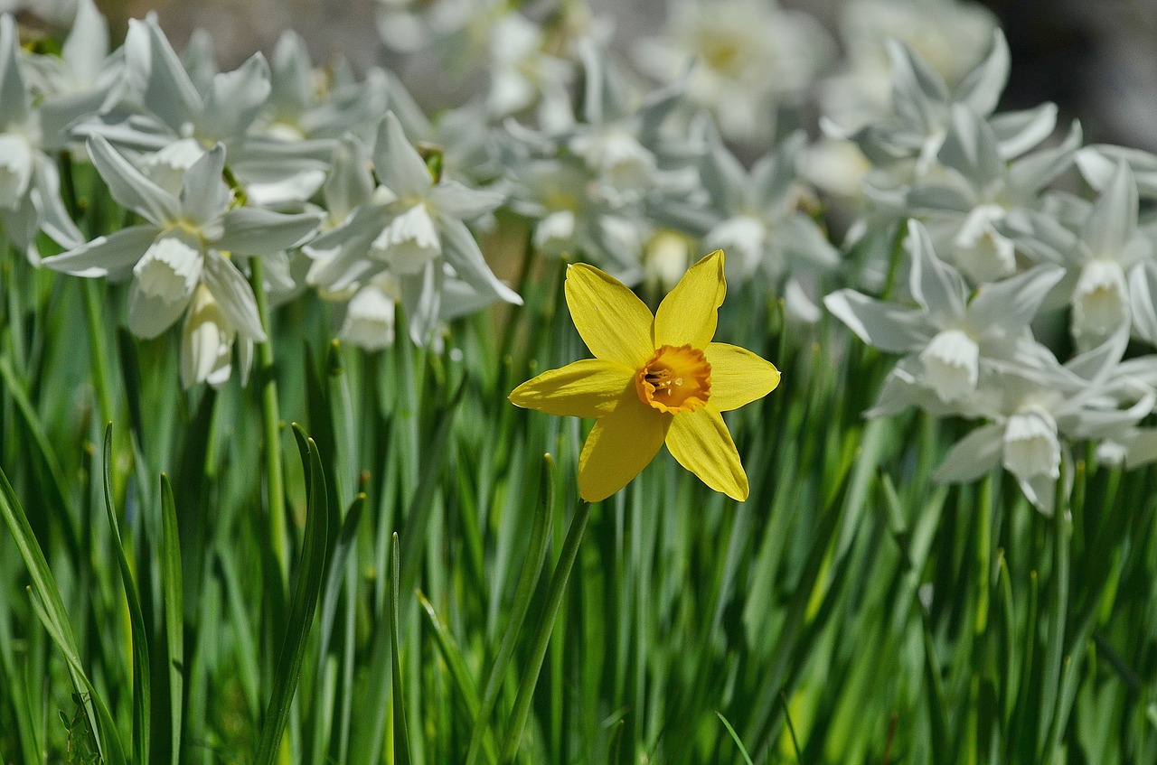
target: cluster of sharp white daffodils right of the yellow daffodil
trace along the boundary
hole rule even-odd
[[[1077,125],[1042,146],[1052,104],[996,112],[1009,73],[1000,32],[955,88],[912,49],[893,42],[891,53],[892,112],[848,135],[871,164],[854,236],[902,226],[907,289],[892,300],[841,289],[825,304],[864,342],[902,355],[869,415],[916,406],[986,423],[937,476],[972,481],[1003,465],[1052,512],[1059,478],[1073,478],[1071,444],[1096,441],[1129,466],[1157,459],[1140,426],[1157,403],[1157,355],[1142,352],[1157,346],[1157,230],[1138,224],[1128,161],[1157,162],[1082,149]],[[1054,183],[1076,166],[1095,200]]]

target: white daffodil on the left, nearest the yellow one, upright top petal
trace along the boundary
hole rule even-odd
[[[500,195],[435,180],[392,112],[378,126],[373,156],[381,185],[348,220],[307,247],[317,258],[310,283],[341,292],[391,273],[400,285],[411,336],[420,344],[442,315],[443,262],[480,295],[522,302],[491,272],[464,223],[496,208]]]

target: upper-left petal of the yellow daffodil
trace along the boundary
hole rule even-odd
[[[655,351],[650,309],[619,280],[575,263],[567,268],[566,294],[575,328],[598,358],[639,369]]]

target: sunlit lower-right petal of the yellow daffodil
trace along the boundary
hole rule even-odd
[[[694,411],[680,411],[666,431],[666,447],[708,487],[731,499],[747,498],[747,474],[743,471],[723,415],[710,402]]]

